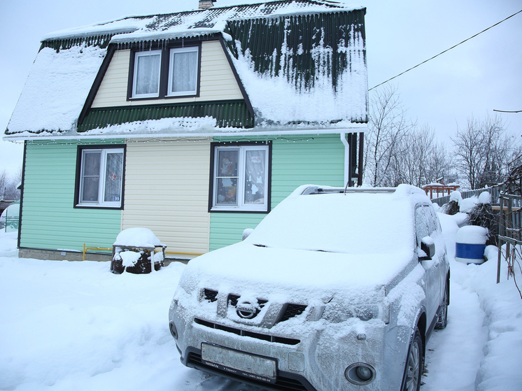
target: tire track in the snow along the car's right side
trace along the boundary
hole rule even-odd
[[[451,280],[448,325],[428,342],[422,391],[474,391],[487,330],[477,293]]]

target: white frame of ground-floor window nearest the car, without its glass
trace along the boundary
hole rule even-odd
[[[218,205],[218,170],[219,170],[219,151],[223,150],[239,150],[238,167],[237,167],[237,205],[226,206]],[[246,171],[246,151],[248,150],[264,150],[264,202],[263,204],[246,204],[245,203],[245,171]],[[269,201],[269,145],[234,145],[234,146],[215,146],[214,162],[213,162],[213,194],[211,211],[258,211],[268,212]],[[235,177],[233,177],[235,178]]]

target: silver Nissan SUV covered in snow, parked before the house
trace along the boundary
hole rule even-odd
[[[169,326],[188,367],[273,390],[418,390],[449,262],[425,193],[299,187],[188,263]]]

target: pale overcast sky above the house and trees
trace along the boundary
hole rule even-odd
[[[218,0],[216,6],[258,3]],[[365,6],[368,84],[411,66],[522,10],[522,0],[359,0]],[[2,1],[0,5],[0,129],[5,131],[44,34],[126,15],[197,8],[197,0]],[[439,141],[471,115],[522,110],[522,13],[393,80],[407,115],[435,129]],[[382,87],[379,87],[382,88]],[[377,90],[377,89],[376,89]],[[372,92],[370,92],[372,97]],[[500,114],[517,137],[522,113]],[[22,145],[0,141],[0,173],[22,166]]]

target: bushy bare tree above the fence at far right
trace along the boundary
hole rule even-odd
[[[502,182],[509,162],[520,150],[519,140],[507,133],[496,115],[488,115],[483,121],[468,118],[466,128],[458,129],[451,140],[458,169],[472,190]]]

